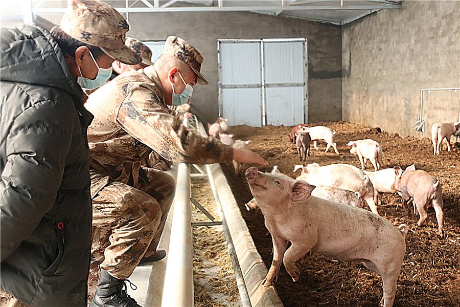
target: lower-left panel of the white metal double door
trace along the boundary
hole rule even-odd
[[[228,125],[262,126],[261,89],[222,89],[222,114]]]

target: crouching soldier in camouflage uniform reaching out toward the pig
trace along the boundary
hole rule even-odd
[[[195,48],[170,36],[153,65],[118,76],[91,94],[85,105],[95,115],[88,129],[96,229],[90,294],[100,264],[94,306],[102,306],[101,294],[109,287],[101,278],[126,279],[143,257],[166,255],[157,245],[175,182],[167,173],[141,165],[152,150],[169,161],[266,164],[250,150],[195,135],[171,115],[173,94],[181,95],[187,84],[208,83],[200,73],[202,61]]]

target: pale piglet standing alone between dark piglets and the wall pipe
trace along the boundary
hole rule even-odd
[[[357,155],[359,162],[361,162],[361,169],[365,169],[365,164],[367,159],[371,161],[374,166],[374,170],[377,171],[382,165],[382,146],[377,141],[366,139],[366,140],[357,140],[350,141],[347,144],[352,146],[350,153],[352,155]]]

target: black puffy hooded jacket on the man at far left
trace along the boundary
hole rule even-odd
[[[1,287],[33,306],[85,306],[93,120],[50,33],[1,30]]]

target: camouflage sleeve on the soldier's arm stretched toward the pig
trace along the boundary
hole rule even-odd
[[[166,160],[188,163],[231,163],[233,148],[212,137],[200,137],[180,124],[147,83],[135,85],[123,100],[117,122],[136,140]]]

